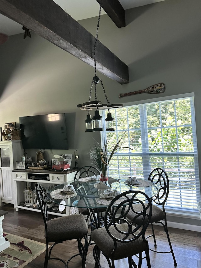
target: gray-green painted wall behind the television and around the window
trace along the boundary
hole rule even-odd
[[[97,72],[111,103],[130,105],[193,93],[199,159],[200,10],[200,0],[166,0],[126,10],[127,26],[121,29],[107,15],[102,15],[98,39],[128,65],[130,83],[120,85]],[[79,23],[95,35],[97,17]],[[89,164],[90,145],[100,134],[84,132],[86,112],[76,105],[89,99],[94,68],[32,32],[31,38],[26,39],[23,34],[10,36],[0,46],[0,58],[0,126],[9,121],[19,123],[20,116],[65,112],[69,150],[46,150],[46,157],[52,159],[55,153],[74,154],[76,149],[80,155],[79,166]],[[119,93],[160,82],[166,85],[163,94],[139,94],[121,101],[118,98]],[[104,99],[101,89],[97,94],[98,99]],[[35,150],[29,154],[35,157]]]

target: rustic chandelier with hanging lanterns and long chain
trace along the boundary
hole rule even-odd
[[[99,113],[99,110],[108,109],[108,114],[106,120],[106,131],[113,131],[113,123],[114,119],[110,113],[111,108],[119,108],[123,107],[123,104],[110,104],[108,97],[106,95],[105,88],[103,86],[102,80],[96,75],[96,59],[95,59],[95,49],[96,49],[96,43],[98,40],[98,28],[100,23],[100,13],[101,13],[101,3],[100,3],[100,10],[99,10],[99,16],[98,16],[98,24],[97,24],[97,30],[96,30],[96,37],[95,37],[95,44],[94,44],[94,67],[95,67],[95,76],[92,79],[91,82],[91,88],[90,88],[90,94],[89,94],[89,101],[84,102],[82,104],[78,104],[77,107],[80,108],[83,111],[88,111],[88,115],[86,120],[84,121],[86,123],[86,130],[85,132],[92,132],[92,131],[102,131],[102,122],[101,118],[102,116]],[[102,86],[103,92],[106,97],[106,104],[103,104],[101,101],[97,100],[97,94],[96,94],[96,87],[97,84],[100,82],[100,85]],[[94,86],[95,90],[95,101],[91,101],[91,94],[92,89]],[[95,115],[91,118],[90,111],[95,110]]]

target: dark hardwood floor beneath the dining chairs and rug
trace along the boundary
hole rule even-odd
[[[45,243],[44,238],[44,224],[42,216],[39,212],[34,211],[15,211],[13,205],[7,204],[0,209],[8,211],[3,220],[3,231],[9,232],[29,238],[41,243]],[[50,215],[50,218],[55,216]],[[68,226],[67,226],[68,228]],[[150,228],[147,234],[150,233]],[[186,231],[181,229],[169,228],[170,238],[177,260],[177,268],[200,268],[201,267],[201,233]],[[166,241],[166,234],[163,232],[162,227],[155,227],[155,235],[158,241],[159,250],[168,250],[168,243]],[[153,246],[152,239],[149,238],[150,246]],[[93,245],[90,245],[87,256],[87,268],[94,267],[93,259]],[[68,260],[73,254],[78,253],[77,241],[71,240],[58,244],[54,251],[55,256],[59,256],[64,260]],[[32,262],[26,265],[26,268],[42,268],[44,264],[45,252],[35,258]],[[172,255],[154,253],[150,251],[150,260],[152,268],[174,268]],[[116,268],[128,267],[127,260],[118,260],[115,262]],[[108,264],[103,256],[101,256],[102,268],[108,268]],[[63,268],[64,265],[59,261],[50,260],[48,268]],[[146,268],[146,260],[143,260],[142,268]],[[81,258],[75,257],[71,260],[69,268],[81,268]]]

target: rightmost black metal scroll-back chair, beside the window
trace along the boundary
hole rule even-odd
[[[152,201],[156,205],[152,205],[153,213],[152,213],[152,217],[151,217],[151,221],[150,221],[151,228],[152,228],[152,235],[149,235],[147,238],[153,236],[154,247],[156,248],[157,244],[156,244],[156,239],[155,239],[153,222],[160,223],[160,224],[162,224],[164,231],[166,232],[167,240],[168,240],[168,243],[170,246],[170,251],[167,251],[167,252],[156,251],[153,249],[150,249],[150,250],[157,252],[157,253],[171,253],[173,260],[174,260],[174,265],[177,266],[177,262],[176,262],[175,255],[174,255],[174,252],[172,249],[170,236],[169,236],[169,232],[168,232],[168,228],[167,228],[167,218],[166,218],[166,211],[165,211],[165,203],[166,203],[166,200],[168,198],[169,188],[170,188],[167,173],[162,168],[155,168],[149,174],[148,180],[151,182],[154,182],[155,184],[158,185],[159,192],[156,196],[152,197]],[[162,220],[164,220],[164,223],[161,222]]]

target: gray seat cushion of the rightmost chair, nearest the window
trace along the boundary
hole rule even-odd
[[[141,211],[142,210],[142,206],[141,205],[133,205],[133,208],[136,211]],[[133,218],[136,216],[136,214],[130,210],[127,214],[127,218],[129,220],[133,220]],[[140,217],[136,218],[135,222],[139,223],[140,222]],[[163,210],[160,207],[157,207],[156,205],[152,205],[152,216],[150,219],[149,223],[153,223],[153,222],[158,222],[161,220],[165,219],[165,213],[163,212]]]

